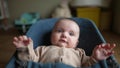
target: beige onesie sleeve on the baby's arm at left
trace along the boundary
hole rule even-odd
[[[41,47],[33,49],[32,46],[26,46],[17,49],[17,58],[21,61],[38,62],[40,58]]]

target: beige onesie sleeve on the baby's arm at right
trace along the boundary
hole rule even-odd
[[[87,56],[83,49],[79,49],[79,54],[81,57],[81,66],[82,67],[88,67],[88,66],[94,65],[98,62],[94,58]]]

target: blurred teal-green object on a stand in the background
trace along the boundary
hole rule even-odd
[[[26,33],[29,27],[37,22],[39,19],[39,13],[23,13],[19,19],[15,20],[14,24],[19,31],[22,31],[22,33]]]

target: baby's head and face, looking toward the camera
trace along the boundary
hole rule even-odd
[[[75,48],[79,38],[78,25],[69,19],[60,20],[54,27],[51,43],[59,47]]]

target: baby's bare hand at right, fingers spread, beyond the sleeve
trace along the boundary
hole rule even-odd
[[[115,47],[115,44],[110,45],[109,43],[107,44],[100,44],[95,47],[93,50],[92,57],[95,58],[96,60],[105,60],[108,58],[110,55],[114,53],[113,48]]]

